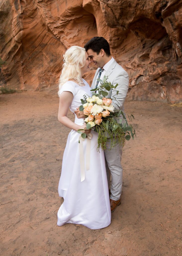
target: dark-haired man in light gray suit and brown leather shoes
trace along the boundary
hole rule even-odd
[[[116,91],[110,90],[106,98],[112,99],[114,110],[122,110],[124,112],[124,101],[128,92],[128,74],[127,72],[115,61],[110,54],[110,47],[108,41],[103,37],[93,37],[84,46],[91,62],[94,62],[98,67],[91,88],[94,89],[99,86],[97,79],[103,80],[103,77],[108,77],[107,81],[116,85],[118,83]],[[114,97],[116,99],[114,99]],[[80,114],[80,111],[75,111],[76,115]],[[79,116],[83,118],[83,116]],[[110,148],[110,140],[108,141],[108,148]],[[119,144],[116,144],[111,150],[105,151],[106,158],[106,172],[108,178],[108,186],[110,184],[111,175],[111,194],[110,205],[111,212],[121,204],[120,196],[122,191],[122,177],[123,169],[121,166],[122,148]]]

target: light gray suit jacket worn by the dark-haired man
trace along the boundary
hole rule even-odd
[[[99,72],[99,69],[97,69],[91,88],[95,88],[95,80],[97,77],[97,74]],[[108,95],[106,98],[112,99],[112,104],[115,108],[115,110],[120,110],[124,112],[124,102],[126,99],[126,95],[128,92],[128,84],[129,84],[129,78],[128,73],[122,68],[115,60],[111,63],[110,67],[105,73],[105,76],[108,76],[107,81],[111,82],[114,86],[116,83],[118,83],[118,87],[116,87],[116,90],[113,89],[108,92]],[[100,84],[100,83],[99,83]],[[116,95],[116,91],[119,91],[118,95]],[[113,98],[113,96],[116,98],[116,100]]]

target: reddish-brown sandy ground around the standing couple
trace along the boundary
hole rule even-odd
[[[182,255],[182,109],[126,102],[137,139],[124,147],[122,204],[109,227],[90,230],[56,225],[69,133],[57,120],[58,104],[45,92],[0,95],[0,255]]]

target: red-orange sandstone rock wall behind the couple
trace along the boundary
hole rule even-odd
[[[1,82],[56,92],[64,51],[93,36],[128,72],[130,100],[181,101],[182,0],[1,0]]]

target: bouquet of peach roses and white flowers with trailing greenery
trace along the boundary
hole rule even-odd
[[[113,86],[107,82],[106,76],[104,76],[103,81],[97,80],[100,82],[100,86],[90,90],[92,97],[84,95],[84,99],[81,99],[82,105],[79,110],[83,111],[85,115],[86,129],[93,129],[98,133],[98,151],[99,148],[106,150],[108,138],[111,140],[111,148],[116,144],[124,146],[125,140],[136,137],[135,129],[127,123],[125,114],[121,110],[114,111],[112,100],[105,98],[108,95],[107,91],[116,90],[118,84]],[[119,91],[116,91],[117,95],[118,93]],[[131,114],[128,118],[132,121],[134,116]],[[83,129],[79,129],[78,132],[81,133],[82,138],[86,138],[87,135],[83,133]]]

